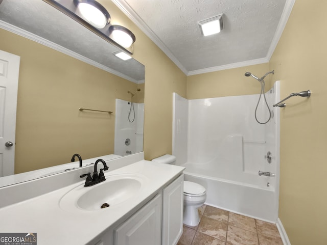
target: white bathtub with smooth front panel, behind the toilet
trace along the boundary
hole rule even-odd
[[[241,176],[238,174],[235,177],[238,179],[236,181],[230,177],[224,178],[224,175],[228,176],[224,171],[220,172],[220,177],[211,176],[217,175],[219,172],[217,169],[211,168],[209,173],[205,173],[205,171],[208,172],[207,164],[186,163],[180,166],[186,168],[183,172],[185,180],[199,183],[206,188],[205,204],[254,219],[276,222],[278,198],[276,197],[274,177],[243,173]]]

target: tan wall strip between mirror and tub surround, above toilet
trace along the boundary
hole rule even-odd
[[[145,65],[145,159],[172,153],[173,92],[186,96],[186,75],[111,1],[99,1],[119,23],[136,36],[134,55]]]

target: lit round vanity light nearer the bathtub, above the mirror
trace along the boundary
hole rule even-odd
[[[134,34],[121,25],[109,26],[109,38],[125,48],[130,47],[135,42]]]

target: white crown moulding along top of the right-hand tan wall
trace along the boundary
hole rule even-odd
[[[270,58],[271,58],[273,52],[275,51],[278,41],[279,41],[279,39],[281,39],[281,36],[283,34],[283,31],[284,31],[284,28],[288,21],[288,18],[291,15],[294,4],[295,4],[295,0],[287,0],[285,3],[285,7],[284,7],[284,10],[283,10],[283,13],[281,16],[281,20],[279,20],[275,35],[271,41],[270,47],[267,52],[266,59],[268,61],[270,61]]]

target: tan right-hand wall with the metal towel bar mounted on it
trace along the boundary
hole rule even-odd
[[[292,245],[327,244],[327,1],[297,0],[270,60],[281,98],[279,218]]]

